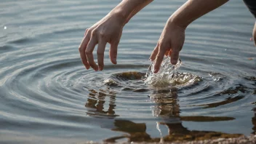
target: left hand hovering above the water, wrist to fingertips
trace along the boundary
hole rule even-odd
[[[107,42],[111,44],[109,56],[111,62],[116,64],[117,46],[121,39],[124,20],[117,15],[108,14],[102,20],[88,28],[84,39],[79,46],[81,61],[85,68],[92,67],[95,71],[102,71],[104,67],[104,51]],[[97,63],[95,63],[92,52],[97,46]]]

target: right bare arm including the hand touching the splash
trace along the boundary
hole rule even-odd
[[[151,60],[156,59],[155,71],[159,67],[164,55],[171,56],[171,63],[176,64],[179,58],[180,50],[185,40],[185,28],[208,12],[225,4],[228,0],[189,0],[167,20],[163,32],[159,38],[156,48],[151,54]]]

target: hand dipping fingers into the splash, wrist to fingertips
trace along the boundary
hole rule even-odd
[[[185,41],[185,28],[172,23],[171,20],[167,21],[160,39],[157,42],[156,48],[153,49],[150,59],[155,60],[154,73],[159,71],[161,62],[164,55],[171,57],[170,63],[176,65],[179,59],[180,50],[183,48]]]

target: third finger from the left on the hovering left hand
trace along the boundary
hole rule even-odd
[[[104,52],[106,44],[107,42],[100,40],[99,44],[97,45],[97,64],[99,65],[100,71],[103,71],[104,67]]]

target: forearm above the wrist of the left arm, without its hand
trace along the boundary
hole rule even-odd
[[[110,14],[119,15],[124,24],[135,15],[140,12],[145,6],[150,4],[153,0],[123,0],[119,5],[117,5]]]

